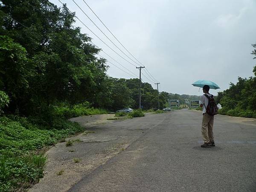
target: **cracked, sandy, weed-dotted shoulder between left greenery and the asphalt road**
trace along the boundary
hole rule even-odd
[[[47,151],[44,177],[30,192],[67,191],[85,175],[124,151],[149,128],[153,114],[134,119],[108,120],[114,114],[80,116],[70,119],[79,122],[86,131],[57,143]],[[161,121],[164,115],[157,121]],[[148,119],[148,120],[147,120]],[[155,122],[154,122],[155,123]],[[144,128],[145,127],[145,128]],[[67,141],[73,142],[66,146]]]

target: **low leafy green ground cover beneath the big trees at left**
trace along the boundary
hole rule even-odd
[[[40,151],[84,131],[78,123],[65,119],[58,119],[58,125],[45,127],[33,124],[31,119],[24,117],[10,118],[0,117],[1,192],[24,191],[37,183],[43,177],[46,162]]]

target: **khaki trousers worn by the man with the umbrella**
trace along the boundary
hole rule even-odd
[[[202,136],[204,143],[209,143],[212,142],[214,137],[213,137],[213,121],[214,121],[214,116],[211,116],[207,113],[203,114],[203,121],[202,121]]]

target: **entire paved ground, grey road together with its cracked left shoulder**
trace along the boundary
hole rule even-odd
[[[49,151],[31,191],[254,191],[256,119],[215,116],[216,146],[201,148],[201,118],[183,109],[95,125]]]

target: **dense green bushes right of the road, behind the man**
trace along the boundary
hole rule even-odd
[[[256,44],[253,44],[256,48]],[[256,49],[252,54],[256,58]],[[238,78],[236,84],[230,83],[230,88],[218,93],[218,101],[222,105],[221,114],[256,118],[256,66],[254,77]]]

